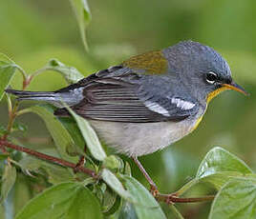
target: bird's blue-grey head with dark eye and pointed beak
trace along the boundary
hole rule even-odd
[[[210,47],[184,41],[163,50],[168,59],[170,74],[176,72],[181,82],[199,100],[211,99],[222,90],[245,90],[234,83],[224,58]]]

